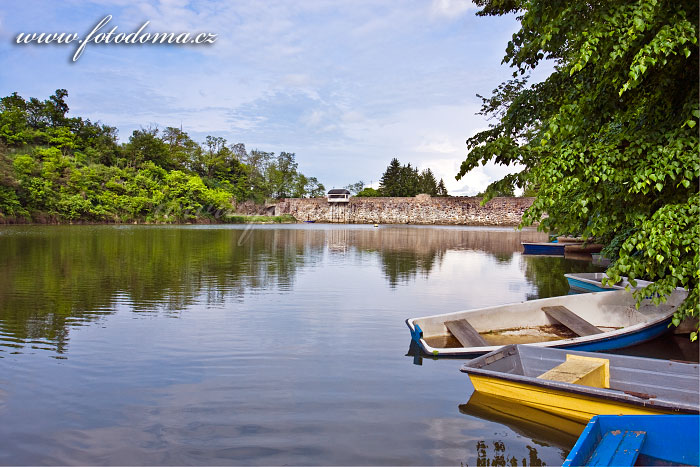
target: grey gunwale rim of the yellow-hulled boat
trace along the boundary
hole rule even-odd
[[[519,344],[519,345],[524,345],[524,346],[531,346],[531,344]],[[516,344],[511,344],[504,346],[501,348],[499,351],[503,352],[505,355],[503,358],[516,358],[520,357],[520,352],[517,349]],[[595,354],[597,356],[600,356],[601,354],[597,354],[595,352],[581,352],[577,350],[568,350],[568,349],[554,349],[554,350],[560,350],[562,352],[576,352],[576,353],[581,353],[583,355],[592,355]],[[604,354],[603,354],[604,355]],[[593,398],[599,398],[599,399],[604,399],[604,400],[611,400],[614,402],[621,402],[621,403],[626,403],[626,404],[631,404],[631,405],[636,405],[640,407],[645,407],[645,408],[652,408],[652,409],[659,409],[659,410],[669,410],[673,413],[689,413],[689,414],[699,414],[700,413],[700,406],[688,404],[686,402],[673,402],[668,399],[663,399],[663,398],[658,398],[655,397],[653,399],[644,399],[641,397],[634,396],[632,394],[625,393],[624,391],[620,391],[618,389],[607,389],[607,388],[596,388],[592,386],[583,386],[583,385],[577,385],[573,383],[565,383],[562,381],[553,381],[553,380],[546,380],[546,379],[539,379],[537,377],[532,377],[532,376],[525,376],[525,375],[518,375],[518,374],[513,374],[513,373],[505,373],[505,372],[500,372],[500,371],[494,371],[494,370],[488,370],[485,368],[475,368],[475,365],[484,363],[487,365],[486,359],[491,356],[491,353],[482,355],[481,357],[475,358],[465,364],[462,365],[459,371],[462,373],[466,373],[468,375],[475,374],[481,377],[486,377],[489,379],[493,380],[506,380],[506,381],[512,381],[515,383],[519,384],[525,384],[525,385],[531,385],[531,386],[536,386],[540,388],[545,388],[545,389],[550,389],[550,390],[558,390],[566,393],[573,393],[573,394],[580,394],[586,397],[593,397]],[[631,360],[649,360],[648,358],[644,357],[635,357],[635,356],[630,356],[630,355],[614,355],[614,357],[621,357],[624,359],[631,359]],[[651,359],[655,360],[655,359]],[[696,368],[700,367],[700,364],[697,363],[680,363],[680,362],[668,362],[671,367],[676,366],[678,368],[683,368],[680,365],[691,365]],[[692,375],[690,375],[692,376]]]

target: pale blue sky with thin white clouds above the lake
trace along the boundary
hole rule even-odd
[[[476,115],[512,70],[515,16],[477,17],[465,0],[4,0],[0,95],[68,90],[70,114],[115,126],[182,126],[248,150],[293,152],[327,188],[378,186],[389,161],[431,168],[451,195],[512,171],[488,164],[455,180]],[[115,34],[216,34],[213,44],[16,44],[20,33],[77,33],[107,15]]]

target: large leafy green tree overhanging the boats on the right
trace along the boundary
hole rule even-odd
[[[636,297],[657,303],[683,287],[674,323],[698,316],[698,2],[476,3],[520,15],[504,62],[522,78],[483,99],[498,122],[467,140],[457,178],[490,160],[524,167],[487,196],[536,186],[523,225],[603,241],[612,282],[654,281]],[[545,59],[554,72],[527,84]]]

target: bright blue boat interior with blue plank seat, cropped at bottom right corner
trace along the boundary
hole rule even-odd
[[[697,415],[596,415],[562,465],[700,465],[698,426]]]

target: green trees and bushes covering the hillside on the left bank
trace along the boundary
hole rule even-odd
[[[181,128],[117,130],[69,117],[68,92],[0,99],[0,220],[180,222],[216,217],[232,202],[316,197],[294,153],[248,151]]]

